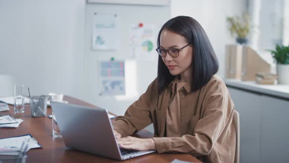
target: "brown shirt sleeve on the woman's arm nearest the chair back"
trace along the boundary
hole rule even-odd
[[[224,83],[208,85],[202,107],[202,118],[197,121],[193,135],[182,137],[154,137],[156,150],[163,152],[208,155],[217,139],[233,118],[233,103]]]

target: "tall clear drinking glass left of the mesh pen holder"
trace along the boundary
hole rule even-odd
[[[24,113],[24,85],[14,84],[14,113]]]

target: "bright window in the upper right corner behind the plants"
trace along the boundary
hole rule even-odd
[[[259,52],[289,45],[289,0],[248,0],[252,47]]]

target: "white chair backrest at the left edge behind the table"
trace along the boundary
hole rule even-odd
[[[0,75],[0,97],[13,96],[15,78],[9,75]]]

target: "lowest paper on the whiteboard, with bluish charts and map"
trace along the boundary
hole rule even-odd
[[[124,61],[99,62],[99,95],[125,95]]]

